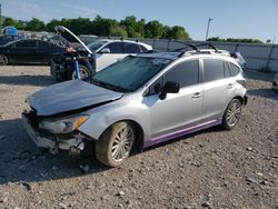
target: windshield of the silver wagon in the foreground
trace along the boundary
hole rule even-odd
[[[91,81],[121,92],[135,91],[169,64],[170,61],[165,58],[129,56],[93,74]]]

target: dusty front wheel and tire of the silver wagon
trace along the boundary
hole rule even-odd
[[[136,129],[130,122],[121,121],[109,127],[95,145],[97,159],[108,167],[118,167],[129,157]]]

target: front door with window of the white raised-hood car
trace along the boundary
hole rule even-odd
[[[103,49],[109,49],[109,53],[101,52]],[[99,52],[96,54],[96,70],[102,70],[103,68],[110,66],[113,62],[119,61],[120,59],[125,58],[127,54],[125,54],[125,42],[123,41],[117,41],[111,42],[106,46],[103,46]]]

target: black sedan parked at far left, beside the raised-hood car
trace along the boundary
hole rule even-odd
[[[53,53],[64,52],[66,47],[49,41],[22,39],[0,47],[0,64],[8,63],[50,63]]]

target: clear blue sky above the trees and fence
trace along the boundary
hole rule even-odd
[[[0,0],[2,16],[44,22],[61,18],[122,20],[135,16],[146,21],[182,26],[195,40],[209,37],[252,38],[278,43],[278,0]]]

